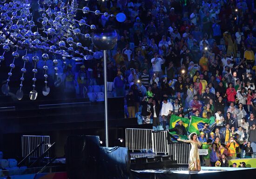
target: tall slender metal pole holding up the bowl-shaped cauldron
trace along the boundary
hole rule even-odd
[[[105,143],[108,147],[108,87],[107,87],[107,50],[103,50],[104,60],[104,104],[105,104]]]

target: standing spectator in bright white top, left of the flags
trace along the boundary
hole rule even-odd
[[[163,98],[162,109],[161,109],[161,117],[163,123],[163,129],[166,130],[166,123],[169,124],[169,116],[173,112],[173,105],[168,102],[167,98]]]

